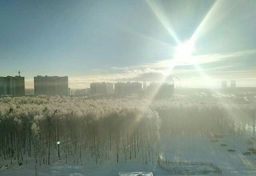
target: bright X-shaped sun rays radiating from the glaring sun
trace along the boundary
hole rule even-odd
[[[212,5],[212,7],[210,8],[210,10],[207,12],[206,16],[203,18],[202,22],[200,23],[200,25],[198,26],[194,34],[191,36],[190,40],[188,40],[187,42],[181,43],[176,33],[174,32],[169,20],[164,15],[163,10],[161,10],[160,7],[152,0],[147,0],[147,2],[150,8],[152,9],[152,11],[154,12],[154,14],[156,15],[156,17],[158,18],[158,20],[160,20],[164,28],[166,28],[166,30],[170,33],[172,38],[178,44],[178,46],[175,49],[176,52],[174,54],[174,57],[170,59],[168,73],[172,72],[173,68],[178,64],[178,62],[180,63],[185,62],[191,65],[194,65],[195,69],[203,78],[204,83],[207,85],[210,85],[210,78],[200,68],[195,57],[192,56],[192,53],[195,50],[194,43],[198,40],[198,38],[206,34],[206,32],[208,32],[211,28],[213,28],[214,25],[216,25],[215,23],[220,21],[228,12],[230,12],[230,9],[232,8],[230,8],[229,10],[224,10],[223,2],[220,0],[216,0]],[[219,15],[219,11],[222,12],[221,15]],[[218,13],[218,15],[216,13]],[[160,82],[165,82],[166,78],[169,75],[170,74],[166,74],[166,76],[162,80],[160,80]],[[148,100],[148,103],[150,103],[150,101],[152,101],[155,98],[158,90],[154,92],[153,96],[151,96],[151,98]],[[210,90],[210,92],[213,92],[213,91]]]

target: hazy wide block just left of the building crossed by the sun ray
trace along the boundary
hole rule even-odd
[[[115,84],[115,94],[139,93],[142,90],[140,82],[118,82]]]

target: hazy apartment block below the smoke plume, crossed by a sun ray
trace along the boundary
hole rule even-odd
[[[174,84],[150,83],[147,93],[155,98],[169,98],[174,94]]]

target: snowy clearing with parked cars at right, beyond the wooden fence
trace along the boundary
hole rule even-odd
[[[211,140],[219,142],[212,142]],[[256,175],[256,154],[243,155],[247,151],[247,140],[250,137],[176,137],[165,138],[162,147],[162,158],[182,162],[211,162],[222,170],[224,176]],[[227,144],[227,146],[220,146]],[[228,152],[234,149],[235,152]],[[207,174],[206,174],[207,175]],[[217,175],[217,174],[212,174]]]

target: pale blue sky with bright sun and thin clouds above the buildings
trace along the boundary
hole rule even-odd
[[[20,70],[26,89],[37,75],[68,76],[73,89],[172,75],[191,88],[256,87],[255,9],[255,0],[2,0],[0,76]]]

